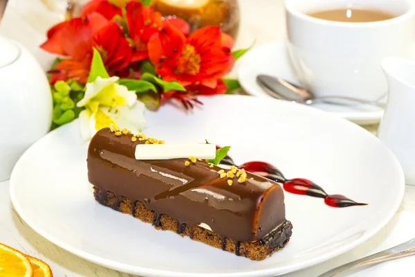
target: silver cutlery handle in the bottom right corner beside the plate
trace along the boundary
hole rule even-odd
[[[354,262],[349,262],[346,265],[336,267],[335,269],[331,269],[330,271],[327,271],[326,273],[320,276],[317,276],[317,277],[340,276],[340,274],[344,274],[348,271],[357,269],[358,267],[364,267],[367,265],[376,265],[380,262],[386,262],[387,260],[394,260],[397,258],[411,256],[414,254],[415,254],[415,238],[407,242],[404,242],[403,244],[399,244],[396,247],[392,247],[385,251],[381,251],[379,253],[373,254],[371,256],[367,256],[365,258],[355,260]]]

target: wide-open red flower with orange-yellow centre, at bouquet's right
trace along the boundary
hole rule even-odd
[[[200,28],[186,38],[167,24],[151,37],[148,47],[156,72],[164,80],[178,80],[185,87],[203,85],[218,93],[219,78],[229,73],[234,65],[230,37],[223,36],[219,26]]]

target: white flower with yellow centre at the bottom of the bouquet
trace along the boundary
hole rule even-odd
[[[84,140],[91,139],[96,132],[109,127],[111,123],[135,133],[145,127],[145,105],[137,100],[134,91],[116,83],[118,79],[98,77],[86,84],[85,96],[77,102],[78,107],[86,107],[79,116]]]

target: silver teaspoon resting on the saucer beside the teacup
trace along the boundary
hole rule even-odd
[[[385,104],[378,102],[380,99],[384,98],[385,95],[382,95],[376,101],[369,101],[348,96],[314,97],[313,93],[310,91],[307,91],[302,87],[297,87],[295,84],[291,84],[291,82],[288,82],[279,77],[273,77],[270,75],[258,75],[257,82],[269,96],[273,96],[274,98],[280,100],[288,100],[305,105],[311,105],[318,101],[330,102],[331,104],[335,105],[347,105],[344,102],[333,102],[333,100],[347,100],[348,102],[354,102],[355,104],[357,102],[360,104],[367,104],[385,109]]]

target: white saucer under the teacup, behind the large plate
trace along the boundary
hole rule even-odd
[[[256,78],[259,74],[279,76],[293,84],[299,84],[291,69],[284,40],[255,47],[239,61],[238,79],[243,89],[252,96],[271,98],[257,84]],[[318,102],[311,106],[360,125],[378,123],[383,115],[382,109],[371,105],[341,106]]]

